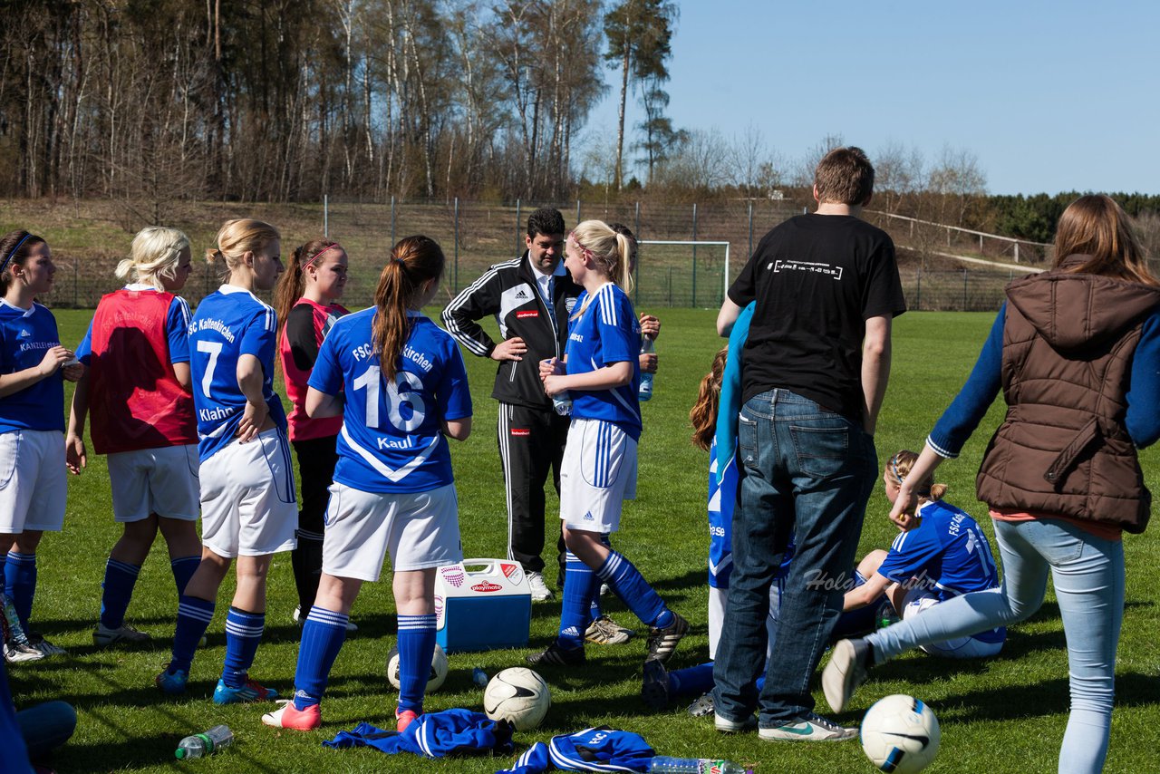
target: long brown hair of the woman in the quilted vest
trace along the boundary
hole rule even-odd
[[[1068,255],[1088,259],[1068,272],[1160,285],[1148,270],[1128,214],[1103,194],[1080,196],[1059,216],[1054,266],[1058,268]]]

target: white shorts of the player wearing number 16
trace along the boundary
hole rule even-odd
[[[387,551],[394,572],[463,562],[455,484],[399,494],[331,484],[322,572],[375,581]]]

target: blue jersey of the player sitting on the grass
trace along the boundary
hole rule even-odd
[[[999,572],[983,528],[963,511],[935,500],[918,511],[921,522],[899,534],[878,574],[905,584],[919,578],[945,601],[999,587]]]

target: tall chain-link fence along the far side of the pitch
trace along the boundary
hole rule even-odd
[[[442,245],[448,265],[437,301],[445,303],[493,263],[523,252],[528,216],[541,205],[541,202],[461,200],[441,203],[392,200],[383,204],[333,201],[318,204],[204,203],[189,205],[168,223],[184,230],[194,245],[194,270],[182,290],[191,304],[212,292],[220,282],[217,269],[201,260],[205,247],[212,245],[220,223],[234,217],[253,217],[280,229],[283,256],[289,255],[293,246],[324,233],[342,244],[350,256],[342,303],[361,309],[371,305],[383,262],[398,239],[422,233]],[[788,202],[768,200],[711,204],[579,201],[548,205],[564,214],[568,227],[597,218],[623,223],[641,240],[727,241],[730,281],[767,231],[802,211]],[[896,241],[905,244],[906,234],[897,224],[883,222],[879,225],[896,232]],[[58,267],[56,288],[43,302],[51,306],[95,308],[103,294],[119,287],[114,269],[128,253],[132,236],[125,231],[123,240],[118,239],[106,238],[101,248],[84,255],[53,246]],[[121,243],[124,252],[116,247]],[[114,247],[109,247],[110,244]],[[1013,272],[1010,276],[1016,274]],[[636,280],[633,297],[639,305],[719,306],[727,285],[725,248],[719,245],[644,245]],[[988,269],[902,269],[912,309],[993,310],[1001,303],[1002,287],[1008,280],[1008,273]],[[260,295],[267,301],[271,297],[269,292]]]

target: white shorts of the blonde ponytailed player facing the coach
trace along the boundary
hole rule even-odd
[[[637,498],[637,442],[611,422],[573,419],[560,464],[560,519],[568,529],[615,533]]]

